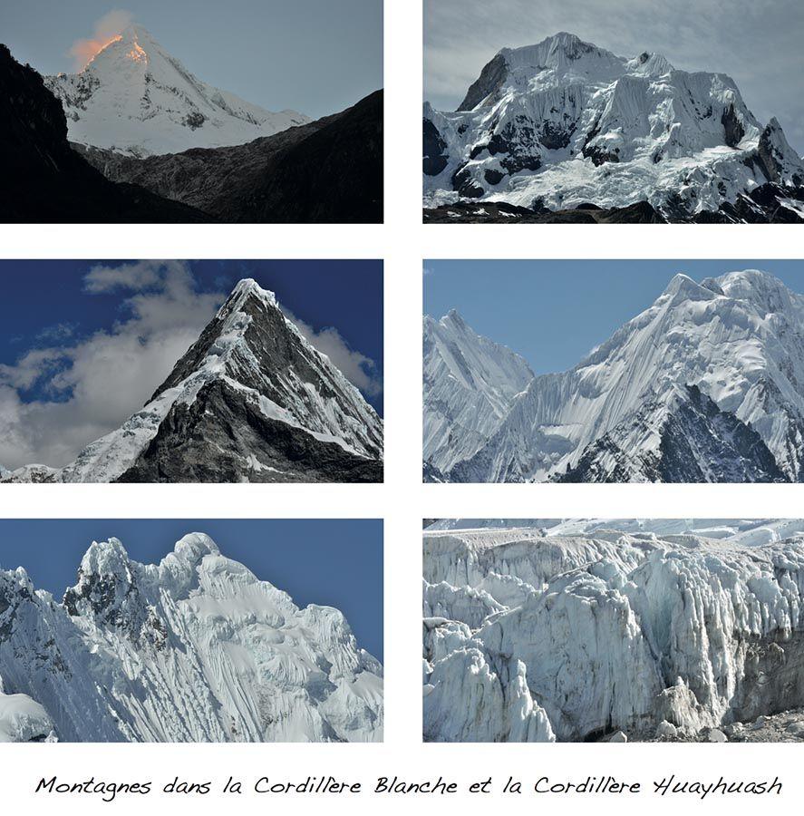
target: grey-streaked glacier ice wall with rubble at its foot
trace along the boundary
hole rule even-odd
[[[425,739],[800,740],[802,601],[801,532],[426,530]]]

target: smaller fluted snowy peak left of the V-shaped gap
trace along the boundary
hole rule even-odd
[[[469,458],[533,379],[528,364],[476,335],[457,311],[424,317],[424,461],[439,471]]]

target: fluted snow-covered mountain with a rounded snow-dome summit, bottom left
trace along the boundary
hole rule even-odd
[[[62,602],[0,570],[0,741],[369,742],[383,669],[202,533],[160,564],[92,543]]]

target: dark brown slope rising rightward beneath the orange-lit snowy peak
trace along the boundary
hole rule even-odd
[[[382,91],[333,116],[233,147],[146,159],[75,147],[108,179],[138,184],[212,219],[383,220]]]

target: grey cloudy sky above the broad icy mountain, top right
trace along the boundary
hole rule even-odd
[[[424,0],[424,98],[454,110],[500,48],[568,31],[620,56],[728,73],[763,124],[804,153],[801,0]]]

